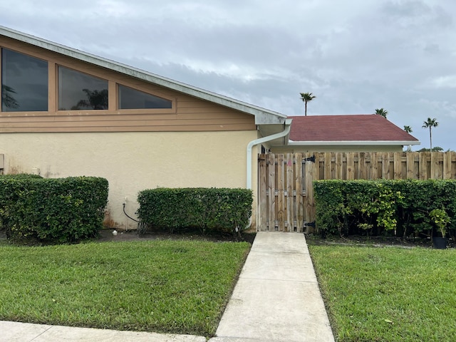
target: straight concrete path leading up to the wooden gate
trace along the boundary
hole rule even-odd
[[[304,234],[257,233],[210,341],[334,341]]]

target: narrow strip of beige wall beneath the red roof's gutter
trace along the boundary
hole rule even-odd
[[[313,146],[283,146],[271,147],[273,153],[303,153],[303,152],[402,152],[402,146],[382,145],[313,145]]]

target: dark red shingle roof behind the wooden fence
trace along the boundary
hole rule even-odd
[[[293,141],[401,141],[418,139],[380,115],[291,116]]]

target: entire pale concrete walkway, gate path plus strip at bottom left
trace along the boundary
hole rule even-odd
[[[202,336],[0,321],[8,342],[205,342]],[[259,232],[217,337],[209,342],[332,342],[304,234]]]

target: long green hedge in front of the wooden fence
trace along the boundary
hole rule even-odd
[[[322,234],[430,235],[432,209],[456,215],[456,180],[316,180],[314,193]]]

